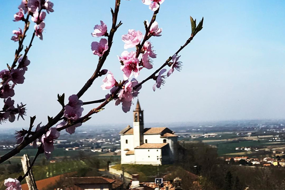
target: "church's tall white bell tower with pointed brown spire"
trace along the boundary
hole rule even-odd
[[[133,130],[134,130],[134,147],[143,144],[143,110],[139,105],[139,100],[135,110],[133,111]]]

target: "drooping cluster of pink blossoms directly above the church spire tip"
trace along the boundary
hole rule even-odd
[[[133,78],[131,81],[126,81],[123,89],[119,91],[118,98],[115,101],[115,105],[119,105],[122,103],[122,110],[127,113],[130,111],[132,99],[134,97],[137,97],[139,94],[139,90],[141,89],[141,86],[135,90],[133,88],[138,85],[139,82]]]

